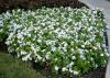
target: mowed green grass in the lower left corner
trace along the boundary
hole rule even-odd
[[[35,71],[31,63],[0,53],[0,78],[46,78]]]

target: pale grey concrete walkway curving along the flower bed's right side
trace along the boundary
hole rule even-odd
[[[109,53],[110,53],[110,0],[79,0],[80,2],[87,4],[91,9],[101,8],[107,21],[107,33],[109,42]],[[110,78],[110,62],[107,66],[106,78]]]

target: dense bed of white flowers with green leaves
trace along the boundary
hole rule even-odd
[[[105,67],[109,57],[100,10],[42,8],[0,14],[0,41],[9,53],[34,60],[55,73],[82,75]],[[45,65],[44,65],[45,64]]]

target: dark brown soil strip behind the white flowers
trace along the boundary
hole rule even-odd
[[[6,0],[4,0],[6,1]],[[41,2],[28,2],[28,0],[14,0],[10,2],[0,1],[0,13],[6,11],[11,11],[13,9],[24,9],[24,10],[35,10],[42,7],[46,8],[59,8],[59,7],[72,7],[72,8],[81,8],[87,7],[86,4],[74,0],[42,0]],[[37,4],[36,4],[37,3]],[[88,7],[87,7],[88,8]]]

